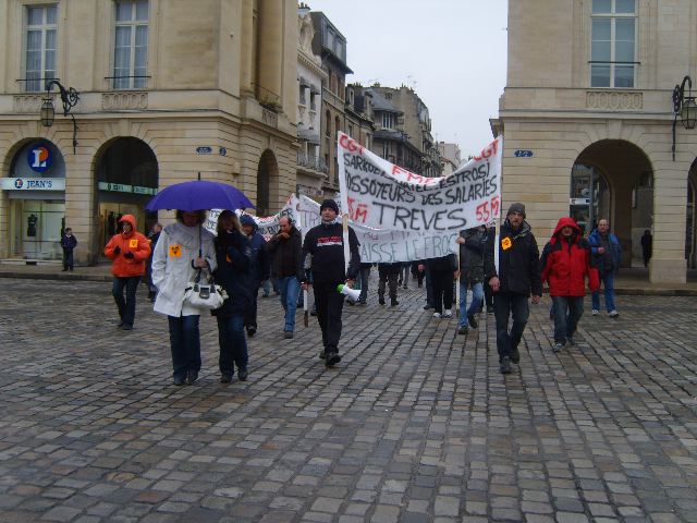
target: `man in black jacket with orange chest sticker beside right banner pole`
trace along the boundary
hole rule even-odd
[[[485,272],[493,291],[497,318],[497,349],[502,374],[511,374],[511,363],[521,361],[518,343],[527,324],[527,300],[533,294],[537,305],[542,297],[539,250],[530,226],[525,221],[525,206],[513,204],[501,226],[499,267],[493,263],[493,250],[485,253]],[[509,316],[513,326],[509,332]]]

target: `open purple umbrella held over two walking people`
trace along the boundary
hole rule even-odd
[[[242,191],[225,183],[195,180],[164,187],[145,206],[147,210],[249,209],[255,208]]]

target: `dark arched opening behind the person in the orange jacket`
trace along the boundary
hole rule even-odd
[[[96,253],[118,231],[120,215],[134,215],[139,232],[146,233],[157,221],[157,212],[145,205],[157,193],[159,167],[148,144],[132,136],[113,138],[95,156],[97,205]]]

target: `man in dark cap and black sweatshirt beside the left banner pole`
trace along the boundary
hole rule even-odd
[[[348,247],[351,259],[348,270],[345,270],[343,227],[337,220],[339,206],[333,199],[326,199],[319,207],[322,222],[311,228],[305,234],[303,244],[303,263],[307,255],[313,256],[313,285],[315,285],[315,303],[317,304],[317,319],[322,329],[323,350],[319,357],[325,358],[328,367],[341,362],[339,355],[339,339],[341,338],[341,313],[344,295],[337,287],[341,283],[353,288],[354,280],[360,267],[358,239],[352,228],[348,228]],[[303,278],[303,290],[309,283]]]

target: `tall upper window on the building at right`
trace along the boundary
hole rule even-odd
[[[590,25],[590,86],[634,87],[636,0],[592,0]]]

